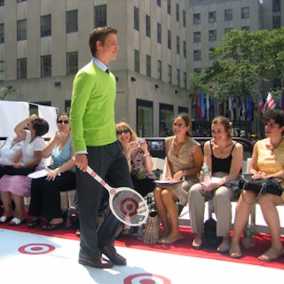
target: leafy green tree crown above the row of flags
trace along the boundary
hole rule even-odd
[[[214,97],[236,97],[256,94],[258,90],[253,88],[258,80],[277,80],[283,84],[283,47],[284,28],[271,32],[233,30],[226,33],[219,46],[210,51],[212,57],[217,58],[214,64],[202,74],[191,76],[192,92],[196,86],[201,85],[204,89],[214,83]]]

